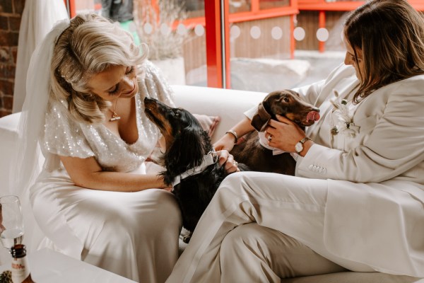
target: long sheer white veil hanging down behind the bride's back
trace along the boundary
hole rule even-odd
[[[30,208],[29,187],[40,173],[42,162],[38,139],[45,125],[45,112],[50,92],[50,65],[57,37],[69,27],[69,19],[57,23],[37,45],[30,59],[26,82],[26,98],[18,124],[18,142],[13,160],[9,191],[20,197],[23,209],[25,235],[23,243],[28,250],[35,250],[42,234]],[[49,156],[45,156],[49,158]]]

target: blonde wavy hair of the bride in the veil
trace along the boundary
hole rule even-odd
[[[137,66],[140,79],[147,52],[143,48],[141,54],[131,34],[109,20],[94,13],[78,15],[54,47],[50,96],[66,100],[71,117],[78,122],[103,122],[110,102],[91,94],[88,81],[110,66]]]

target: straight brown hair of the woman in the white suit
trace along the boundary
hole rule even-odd
[[[371,0],[351,12],[344,36],[363,52],[363,74],[353,101],[382,86],[424,74],[423,16],[405,0]]]

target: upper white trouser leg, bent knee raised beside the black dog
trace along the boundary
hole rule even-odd
[[[326,180],[259,172],[229,175],[167,282],[225,282],[220,245],[229,231],[250,222],[281,231],[334,261],[323,243],[326,196]]]

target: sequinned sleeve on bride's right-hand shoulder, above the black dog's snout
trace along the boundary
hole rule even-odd
[[[141,96],[155,98],[171,107],[175,107],[174,92],[163,77],[160,69],[155,67],[152,62],[146,61],[144,63],[144,71],[144,83],[139,84]]]

